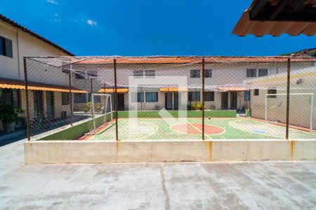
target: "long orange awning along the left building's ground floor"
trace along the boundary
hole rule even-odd
[[[0,88],[20,89],[25,90],[25,82],[20,80],[5,80],[0,79]],[[42,90],[42,91],[55,91],[55,92],[69,92],[69,87],[61,85],[48,85],[41,83],[28,83],[28,90]],[[86,90],[79,90],[72,88],[72,92],[87,93]]]

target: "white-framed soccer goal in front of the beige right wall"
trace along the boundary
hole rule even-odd
[[[312,116],[314,109],[314,93],[290,93],[290,120],[308,120],[309,130],[312,133]],[[277,97],[282,97],[278,99]],[[265,94],[265,121],[279,121],[287,107],[287,93]],[[271,120],[274,119],[274,120]],[[295,123],[290,123],[294,124]]]

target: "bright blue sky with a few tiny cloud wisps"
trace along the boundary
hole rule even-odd
[[[249,0],[11,0],[0,13],[75,55],[279,55],[316,36],[239,37]]]

